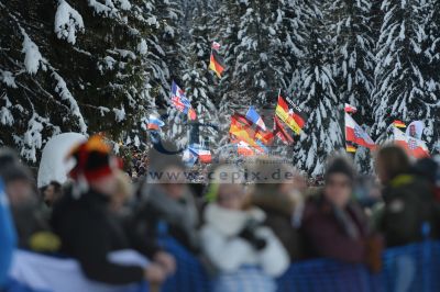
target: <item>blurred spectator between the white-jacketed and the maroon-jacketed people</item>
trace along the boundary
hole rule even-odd
[[[300,175],[289,165],[275,157],[260,157],[252,164],[253,172],[273,178],[258,181],[251,190],[250,203],[266,213],[267,225],[283,243],[290,260],[304,256],[302,238],[296,227],[300,223],[304,201],[299,190],[305,190]],[[274,178],[275,177],[275,178]]]

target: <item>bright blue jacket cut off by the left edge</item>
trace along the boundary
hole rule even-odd
[[[15,247],[15,231],[3,182],[0,180],[0,288],[4,284]]]

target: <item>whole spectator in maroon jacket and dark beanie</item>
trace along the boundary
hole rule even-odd
[[[334,158],[326,172],[326,184],[309,198],[301,229],[309,254],[346,262],[367,262],[380,268],[381,238],[371,236],[363,210],[351,201],[354,169],[344,158]]]

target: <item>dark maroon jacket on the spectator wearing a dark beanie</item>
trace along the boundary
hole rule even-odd
[[[309,198],[301,232],[309,257],[326,257],[346,262],[364,262],[367,257],[367,220],[355,203],[349,203],[344,210],[339,210],[322,194]]]

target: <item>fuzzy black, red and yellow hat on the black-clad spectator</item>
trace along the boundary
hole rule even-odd
[[[120,167],[109,145],[99,135],[76,146],[67,158],[76,160],[76,166],[69,172],[74,180],[84,176],[87,181],[94,181],[111,175],[114,168]]]

